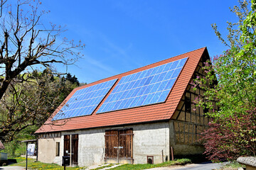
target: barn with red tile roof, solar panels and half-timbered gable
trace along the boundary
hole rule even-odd
[[[38,161],[158,164],[201,154],[209,119],[190,83],[208,59],[203,47],[74,89],[36,131]]]

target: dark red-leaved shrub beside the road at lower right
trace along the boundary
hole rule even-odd
[[[218,162],[256,154],[256,108],[209,123],[202,133],[208,159]]]

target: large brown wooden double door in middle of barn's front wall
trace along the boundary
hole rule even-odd
[[[107,130],[105,132],[105,158],[117,163],[122,159],[132,160],[132,137],[132,129]]]

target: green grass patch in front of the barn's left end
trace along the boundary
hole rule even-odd
[[[10,166],[26,166],[26,158],[23,157],[17,157],[13,158],[16,159],[16,164],[11,164]],[[63,170],[63,166],[59,166],[58,164],[46,164],[42,162],[35,162],[35,159],[28,159],[28,169],[38,169],[38,170]],[[67,170],[79,170],[79,169],[85,169],[85,167],[66,167]]]

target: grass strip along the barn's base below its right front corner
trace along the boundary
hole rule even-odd
[[[124,164],[124,165],[120,165],[120,166],[113,168],[113,170],[151,169],[151,168],[156,168],[156,167],[168,167],[168,166],[183,165],[183,164],[189,164],[189,163],[191,163],[191,159],[177,159],[175,161],[164,162],[161,164]]]

